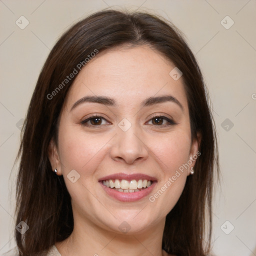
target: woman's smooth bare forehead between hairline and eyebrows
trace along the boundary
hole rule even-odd
[[[182,77],[174,80],[175,66],[147,45],[118,47],[97,53],[77,74],[67,95],[70,105],[85,95],[104,95],[120,104],[171,94],[186,105]]]

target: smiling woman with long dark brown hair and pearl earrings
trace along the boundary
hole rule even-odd
[[[90,15],[57,41],[29,105],[19,255],[208,254],[216,148],[180,32],[148,13]]]

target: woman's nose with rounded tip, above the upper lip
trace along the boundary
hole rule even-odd
[[[132,125],[127,131],[117,128],[110,150],[113,160],[132,164],[148,157],[148,149],[142,135],[133,127]]]

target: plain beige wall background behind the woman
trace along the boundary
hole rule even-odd
[[[185,34],[209,89],[219,139],[213,251],[256,255],[256,0],[0,0],[0,254],[14,245],[18,127],[39,71],[70,24],[113,5],[160,14]],[[24,29],[15,24],[21,15],[29,21]],[[234,24],[226,29],[222,19]]]

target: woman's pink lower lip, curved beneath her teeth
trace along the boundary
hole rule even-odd
[[[105,185],[102,184],[102,182],[99,182],[100,185],[103,187],[103,189],[105,190],[105,192],[110,195],[111,197],[119,200],[119,201],[123,201],[123,202],[133,202],[133,201],[137,201],[143,197],[145,197],[146,195],[148,195],[152,189],[154,188],[156,181],[153,181],[153,183],[147,187],[144,188],[140,191],[137,192],[119,192],[113,188],[109,188]]]

